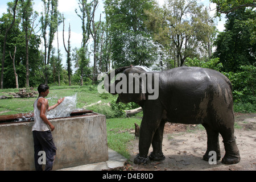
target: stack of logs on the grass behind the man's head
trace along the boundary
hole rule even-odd
[[[29,98],[29,97],[38,97],[38,91],[35,91],[34,88],[19,89],[19,92],[8,93],[8,96],[0,96],[0,99],[6,99],[6,98]]]

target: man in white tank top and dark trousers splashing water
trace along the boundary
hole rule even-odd
[[[56,147],[53,142],[52,133],[55,127],[46,117],[47,111],[54,109],[63,102],[64,97],[57,101],[57,104],[49,107],[47,97],[49,94],[49,86],[40,84],[38,86],[39,96],[34,102],[34,120],[32,133],[34,138],[34,158],[36,171],[42,171],[42,155],[46,154],[46,171],[52,170],[53,162],[56,156]]]

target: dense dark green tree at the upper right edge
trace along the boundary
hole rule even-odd
[[[214,42],[215,57],[220,58],[225,72],[237,72],[241,65],[255,65],[256,42],[251,42],[250,24],[248,19],[256,19],[253,9],[240,8],[226,15],[224,32],[218,34]]]

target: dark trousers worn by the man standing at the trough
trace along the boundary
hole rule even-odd
[[[51,131],[32,131],[34,138],[34,158],[36,171],[42,171],[42,151],[46,152],[46,168],[45,171],[52,170],[53,162],[56,156],[55,144],[53,143]],[[41,152],[40,152],[41,151]],[[40,159],[39,159],[40,158]]]

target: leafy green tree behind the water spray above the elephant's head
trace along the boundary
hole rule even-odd
[[[146,10],[152,9],[155,1],[115,0],[105,1],[106,22],[113,67],[129,64],[152,65],[152,57],[146,43],[150,42],[145,21]]]

